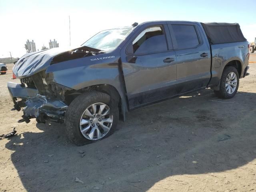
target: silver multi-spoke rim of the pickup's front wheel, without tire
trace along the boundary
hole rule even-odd
[[[110,131],[112,123],[110,107],[104,103],[94,103],[84,110],[79,126],[86,139],[99,140]]]

